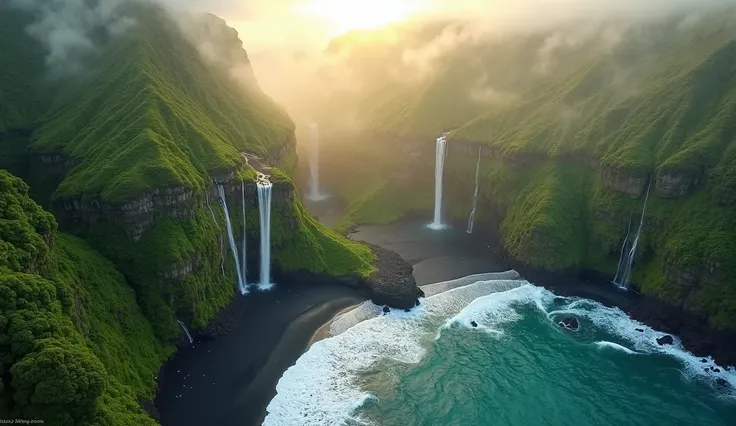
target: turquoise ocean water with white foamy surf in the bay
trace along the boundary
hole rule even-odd
[[[736,424],[733,369],[659,346],[618,309],[519,279],[448,283],[411,313],[338,318],[284,373],[264,425]]]

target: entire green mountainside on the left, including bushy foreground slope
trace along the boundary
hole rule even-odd
[[[302,206],[294,123],[235,30],[145,3],[116,13],[134,24],[87,34],[84,71],[56,75],[34,17],[0,5],[0,169],[25,180],[0,170],[2,418],[155,424],[141,404],[176,319],[203,328],[236,294],[218,186],[257,265],[256,169],[274,182],[275,270],[374,270]]]

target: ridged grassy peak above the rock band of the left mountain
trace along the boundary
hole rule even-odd
[[[153,188],[201,190],[242,164],[238,151],[263,155],[293,133],[255,84],[208,65],[161,12],[138,16],[36,134],[33,150],[81,161],[57,196],[118,202]]]

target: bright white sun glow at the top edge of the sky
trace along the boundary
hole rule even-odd
[[[419,12],[421,6],[421,0],[310,0],[296,10],[325,21],[337,34],[401,22]]]

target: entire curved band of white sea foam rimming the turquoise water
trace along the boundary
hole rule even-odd
[[[356,383],[362,372],[383,359],[405,364],[420,362],[431,342],[449,327],[503,333],[504,325],[521,318],[515,309],[519,305],[536,307],[547,315],[553,326],[559,315],[587,318],[597,328],[623,339],[629,346],[596,342],[601,348],[629,354],[666,354],[680,360],[689,377],[708,377],[710,383],[722,378],[731,388],[736,388],[736,373],[717,367],[710,358],[707,363],[701,362],[700,358],[685,351],[676,337],[671,346],[658,345],[656,339],[663,333],[632,320],[619,309],[586,299],[563,298],[566,302],[563,306],[548,312],[547,307],[554,306],[556,296],[526,281],[487,280],[471,284],[465,280],[453,281],[450,285],[439,283],[442,286],[434,290],[449,290],[428,296],[408,313],[392,310],[382,315],[380,307],[367,302],[336,318],[332,326],[337,334],[312,345],[284,373],[276,386],[278,394],[268,405],[263,425],[370,424],[358,414],[366,402],[376,400],[375,395],[362,390]],[[425,293],[426,288],[423,287]],[[720,372],[704,373],[703,370],[710,367],[719,368]]]

